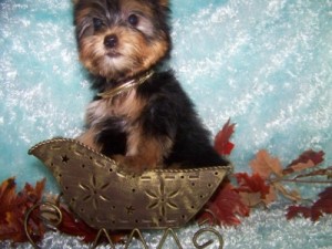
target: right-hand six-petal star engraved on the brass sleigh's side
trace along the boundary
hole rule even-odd
[[[159,209],[159,214],[163,217],[166,217],[166,209],[178,209],[176,203],[172,199],[178,195],[178,189],[167,193],[165,191],[165,185],[162,181],[157,191],[146,190],[145,194],[152,199],[151,204],[147,206],[147,209]]]

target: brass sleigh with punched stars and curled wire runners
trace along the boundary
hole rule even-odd
[[[29,154],[42,160],[52,172],[70,208],[90,227],[100,230],[96,240],[102,234],[108,238],[107,230],[126,229],[132,230],[132,236],[138,235],[144,248],[147,248],[141,234],[144,229],[165,230],[158,248],[169,235],[181,248],[173,228],[191,220],[232,169],[230,165],[155,169],[135,177],[118,170],[116,162],[111,158],[68,138],[39,143]],[[203,229],[196,236],[205,231],[217,235],[219,248],[222,248],[222,237],[212,228]],[[199,246],[196,239],[193,239],[196,248],[211,243],[208,241]],[[114,248],[110,238],[108,242]]]

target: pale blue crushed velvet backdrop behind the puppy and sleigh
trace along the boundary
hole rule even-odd
[[[92,93],[71,8],[70,0],[0,0],[0,181],[48,176],[48,189],[58,191],[27,152],[83,126]],[[236,172],[249,170],[260,148],[283,164],[323,149],[331,165],[331,0],[173,0],[172,10],[172,65],[212,134],[229,117],[237,123]],[[331,225],[331,217],[315,226],[286,221],[277,206],[222,232],[226,248],[329,248]]]

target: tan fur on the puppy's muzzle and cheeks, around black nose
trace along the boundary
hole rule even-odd
[[[107,50],[104,46],[106,35],[115,34],[118,46]],[[83,38],[81,41],[80,60],[95,75],[106,79],[116,79],[126,75],[134,76],[149,69],[168,50],[168,43],[164,40],[146,41],[143,35],[126,28],[113,28],[97,35]],[[108,56],[108,52],[116,52],[116,58]]]

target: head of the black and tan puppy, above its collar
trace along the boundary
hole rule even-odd
[[[94,75],[132,77],[169,51],[167,0],[76,0],[80,60]]]

